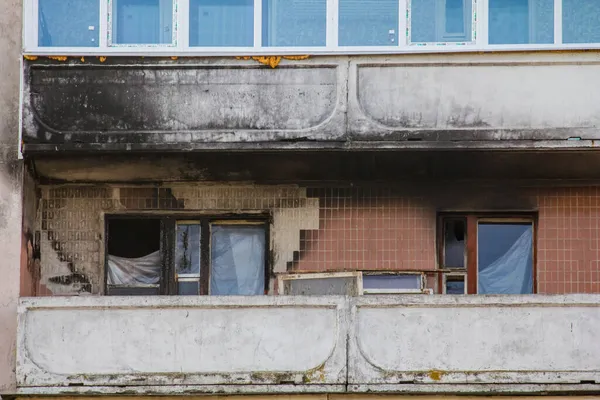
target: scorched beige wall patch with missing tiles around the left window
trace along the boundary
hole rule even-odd
[[[99,294],[104,287],[104,216],[132,212],[272,216],[274,273],[285,272],[300,231],[318,229],[318,199],[293,186],[118,185],[42,186],[38,212],[40,284],[50,294]]]

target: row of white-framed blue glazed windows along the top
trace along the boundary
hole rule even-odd
[[[26,54],[600,49],[597,0],[24,0]]]

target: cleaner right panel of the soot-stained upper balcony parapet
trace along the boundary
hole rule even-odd
[[[494,58],[357,60],[349,76],[349,134],[356,139],[597,138],[597,62]]]

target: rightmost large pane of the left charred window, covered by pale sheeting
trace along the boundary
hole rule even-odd
[[[211,295],[261,295],[265,288],[265,228],[211,226]]]

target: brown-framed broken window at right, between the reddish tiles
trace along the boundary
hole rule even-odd
[[[442,216],[440,286],[446,294],[534,292],[530,216]]]

